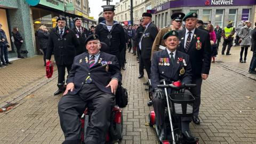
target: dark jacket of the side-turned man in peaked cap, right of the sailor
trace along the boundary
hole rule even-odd
[[[141,57],[142,59],[150,59],[151,50],[158,33],[157,27],[151,22],[145,29],[141,39]],[[140,42],[140,41],[139,41]]]

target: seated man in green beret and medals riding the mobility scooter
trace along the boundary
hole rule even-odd
[[[150,76],[154,95],[153,107],[156,114],[156,124],[160,129],[158,134],[159,141],[166,139],[166,96],[162,89],[157,88],[157,85],[161,84],[161,79],[165,79],[166,84],[176,81],[191,84],[191,65],[189,55],[177,51],[177,47],[180,42],[178,31],[169,31],[163,36],[163,39],[166,44],[166,49],[153,54]],[[173,90],[168,89],[167,92],[172,93]],[[185,93],[190,92],[185,90]],[[189,123],[191,120],[192,117],[181,117],[181,132],[189,142],[194,142],[198,139],[190,134]]]

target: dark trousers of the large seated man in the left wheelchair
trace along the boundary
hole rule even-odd
[[[90,103],[94,110],[86,130],[85,143],[105,143],[110,125],[111,110],[115,105],[115,95],[102,92],[94,84],[84,84],[75,95],[64,95],[58,103],[60,126],[65,135],[65,143],[81,140],[80,117]]]

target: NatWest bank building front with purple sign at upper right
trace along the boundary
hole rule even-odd
[[[153,20],[159,28],[171,25],[171,14],[175,12],[196,12],[198,19],[211,21],[214,26],[225,27],[227,21],[234,21],[236,27],[241,21],[254,21],[254,0],[177,0],[169,1],[154,9]]]

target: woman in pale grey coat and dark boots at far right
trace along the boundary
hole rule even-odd
[[[251,45],[251,27],[252,22],[246,21],[245,26],[239,30],[238,36],[242,39],[241,52],[240,52],[240,62],[246,62],[248,47]],[[239,40],[240,41],[240,40]],[[243,61],[243,53],[244,53],[244,61]]]

